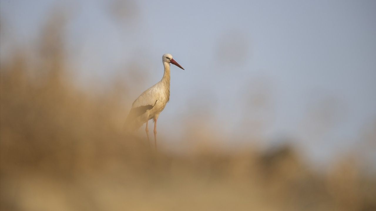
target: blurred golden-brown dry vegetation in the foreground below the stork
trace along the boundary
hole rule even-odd
[[[125,137],[126,86],[78,88],[51,26],[38,62],[0,63],[1,210],[376,210],[374,171],[351,155],[318,171],[294,146],[177,154]]]

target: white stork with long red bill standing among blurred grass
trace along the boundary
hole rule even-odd
[[[162,62],[164,66],[162,80],[138,96],[133,102],[132,109],[130,109],[125,122],[125,127],[128,131],[137,130],[146,122],[145,131],[147,140],[150,143],[147,123],[150,119],[153,119],[155,148],[157,147],[157,119],[170,100],[170,63],[184,69],[172,58],[172,55],[168,53],[163,54]]]

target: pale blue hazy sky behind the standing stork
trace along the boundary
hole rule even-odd
[[[171,144],[184,125],[177,117],[197,108],[213,109],[211,120],[223,122],[218,129],[228,136],[244,133],[237,129],[244,116],[259,119],[265,146],[290,137],[317,160],[353,148],[364,128],[374,127],[374,0],[143,0],[119,4],[124,19],[108,2],[1,0],[1,24],[32,49],[53,6],[65,8],[68,59],[79,78],[107,83],[127,62],[144,61],[150,78],[135,98],[162,77],[162,54],[173,54],[186,70],[172,69],[170,103],[158,125],[160,133],[176,131]],[[2,59],[11,49],[4,40]],[[245,109],[261,91],[268,105]],[[327,119],[320,122],[317,112]]]

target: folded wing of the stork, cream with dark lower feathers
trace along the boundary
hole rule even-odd
[[[153,89],[153,87],[143,92],[133,102],[132,109],[130,109],[126,122],[132,121],[138,116],[143,115],[147,110],[152,109],[155,103],[158,101],[158,97],[158,92],[155,89]]]

